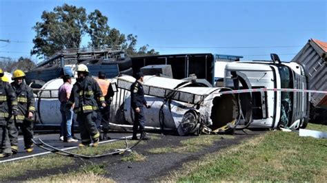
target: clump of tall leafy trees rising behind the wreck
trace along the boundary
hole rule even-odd
[[[82,7],[57,6],[52,12],[44,11],[42,21],[34,26],[37,35],[33,39],[34,47],[31,54],[37,56],[52,56],[64,48],[79,48],[81,37],[88,33],[88,47],[110,47],[119,45],[126,49],[128,56],[159,54],[155,50],[148,51],[148,45],[135,48],[137,36],[129,34],[127,39],[119,30],[110,28],[108,17],[95,10],[86,14]]]

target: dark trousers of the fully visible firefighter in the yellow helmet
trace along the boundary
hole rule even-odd
[[[33,121],[32,120],[23,120],[23,122],[15,123],[17,131],[21,128],[23,132],[25,148],[28,149],[33,145]]]

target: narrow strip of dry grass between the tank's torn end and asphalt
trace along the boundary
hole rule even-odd
[[[222,138],[235,138],[234,136],[196,136],[187,140],[181,140],[178,147],[160,147],[149,149],[149,153],[189,153],[197,152],[204,147],[210,147],[215,141]]]

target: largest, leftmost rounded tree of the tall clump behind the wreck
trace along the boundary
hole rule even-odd
[[[34,26],[37,35],[33,39],[31,54],[51,56],[65,47],[79,48],[81,37],[86,33],[86,10],[82,7],[57,6],[53,12],[44,11],[42,21]]]

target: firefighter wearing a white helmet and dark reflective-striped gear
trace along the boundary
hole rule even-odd
[[[81,144],[79,147],[89,146],[91,139],[93,147],[99,144],[100,133],[95,125],[97,120],[98,105],[106,107],[104,97],[97,81],[88,76],[88,67],[80,64],[77,66],[77,81],[72,87],[72,93],[68,100],[68,106],[74,106],[74,112],[77,114],[79,122],[79,131],[81,131]]]

